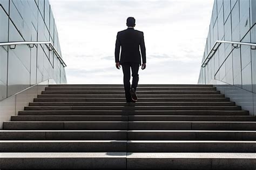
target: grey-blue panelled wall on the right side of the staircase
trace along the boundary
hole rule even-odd
[[[255,0],[215,0],[202,63],[217,40],[256,43],[255,23]],[[251,113],[255,113],[255,55],[256,50],[251,49],[250,46],[242,45],[234,48],[231,44],[221,44],[206,67],[201,67],[198,83],[220,84],[221,82],[236,87],[238,91],[250,93],[250,96],[254,96],[250,97]],[[241,92],[237,94],[239,96]]]

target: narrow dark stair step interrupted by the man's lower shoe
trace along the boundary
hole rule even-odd
[[[125,98],[35,98],[34,102],[126,102]],[[139,102],[228,102],[229,98],[139,98]]]

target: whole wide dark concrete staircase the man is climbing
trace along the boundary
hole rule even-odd
[[[0,131],[1,169],[256,169],[255,117],[212,85],[50,85]]]

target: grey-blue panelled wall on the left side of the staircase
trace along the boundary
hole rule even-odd
[[[49,0],[0,0],[0,43],[51,41],[61,54]],[[66,83],[65,69],[46,45],[0,46],[0,100],[48,79]]]

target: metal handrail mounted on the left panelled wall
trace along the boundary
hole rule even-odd
[[[59,59],[60,63],[63,65],[63,67],[66,67],[65,62],[62,59],[62,56],[59,55],[59,52],[57,51],[55,46],[52,44],[52,42],[7,42],[7,43],[0,43],[0,46],[10,46],[10,49],[15,49],[16,45],[29,45],[29,47],[32,48],[36,44],[49,44],[48,49],[50,51],[53,50],[53,52],[57,55],[57,58]],[[14,47],[11,47],[11,46],[14,46]]]

